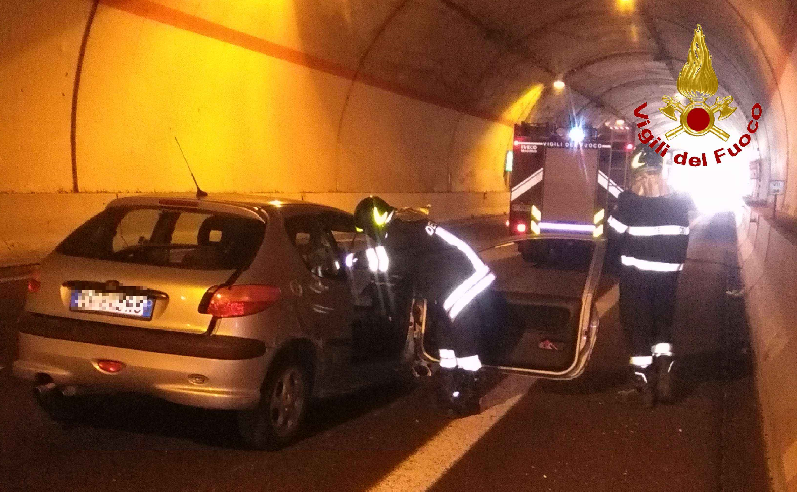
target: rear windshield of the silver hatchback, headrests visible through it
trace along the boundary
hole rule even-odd
[[[265,223],[218,212],[110,207],[61,242],[57,253],[80,258],[190,270],[248,266]]]

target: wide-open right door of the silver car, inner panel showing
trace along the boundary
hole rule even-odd
[[[479,306],[482,364],[526,376],[578,377],[595,348],[594,300],[605,252],[605,239],[583,234],[512,237],[482,248],[479,256],[496,276]],[[415,299],[414,349],[426,364],[438,362],[439,316]]]

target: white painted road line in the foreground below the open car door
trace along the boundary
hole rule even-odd
[[[483,404],[495,400],[501,403],[487,408],[479,415],[452,420],[412,455],[398,463],[391,473],[368,489],[368,492],[420,492],[429,489],[520,401],[534,381],[533,378],[522,376],[505,377],[482,399]]]

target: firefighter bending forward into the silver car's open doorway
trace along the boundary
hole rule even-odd
[[[397,209],[370,196],[357,205],[355,221],[375,241],[366,251],[371,271],[401,272],[426,297],[438,326],[444,403],[460,415],[477,413],[479,294],[495,276],[470,246],[418,209]]]

